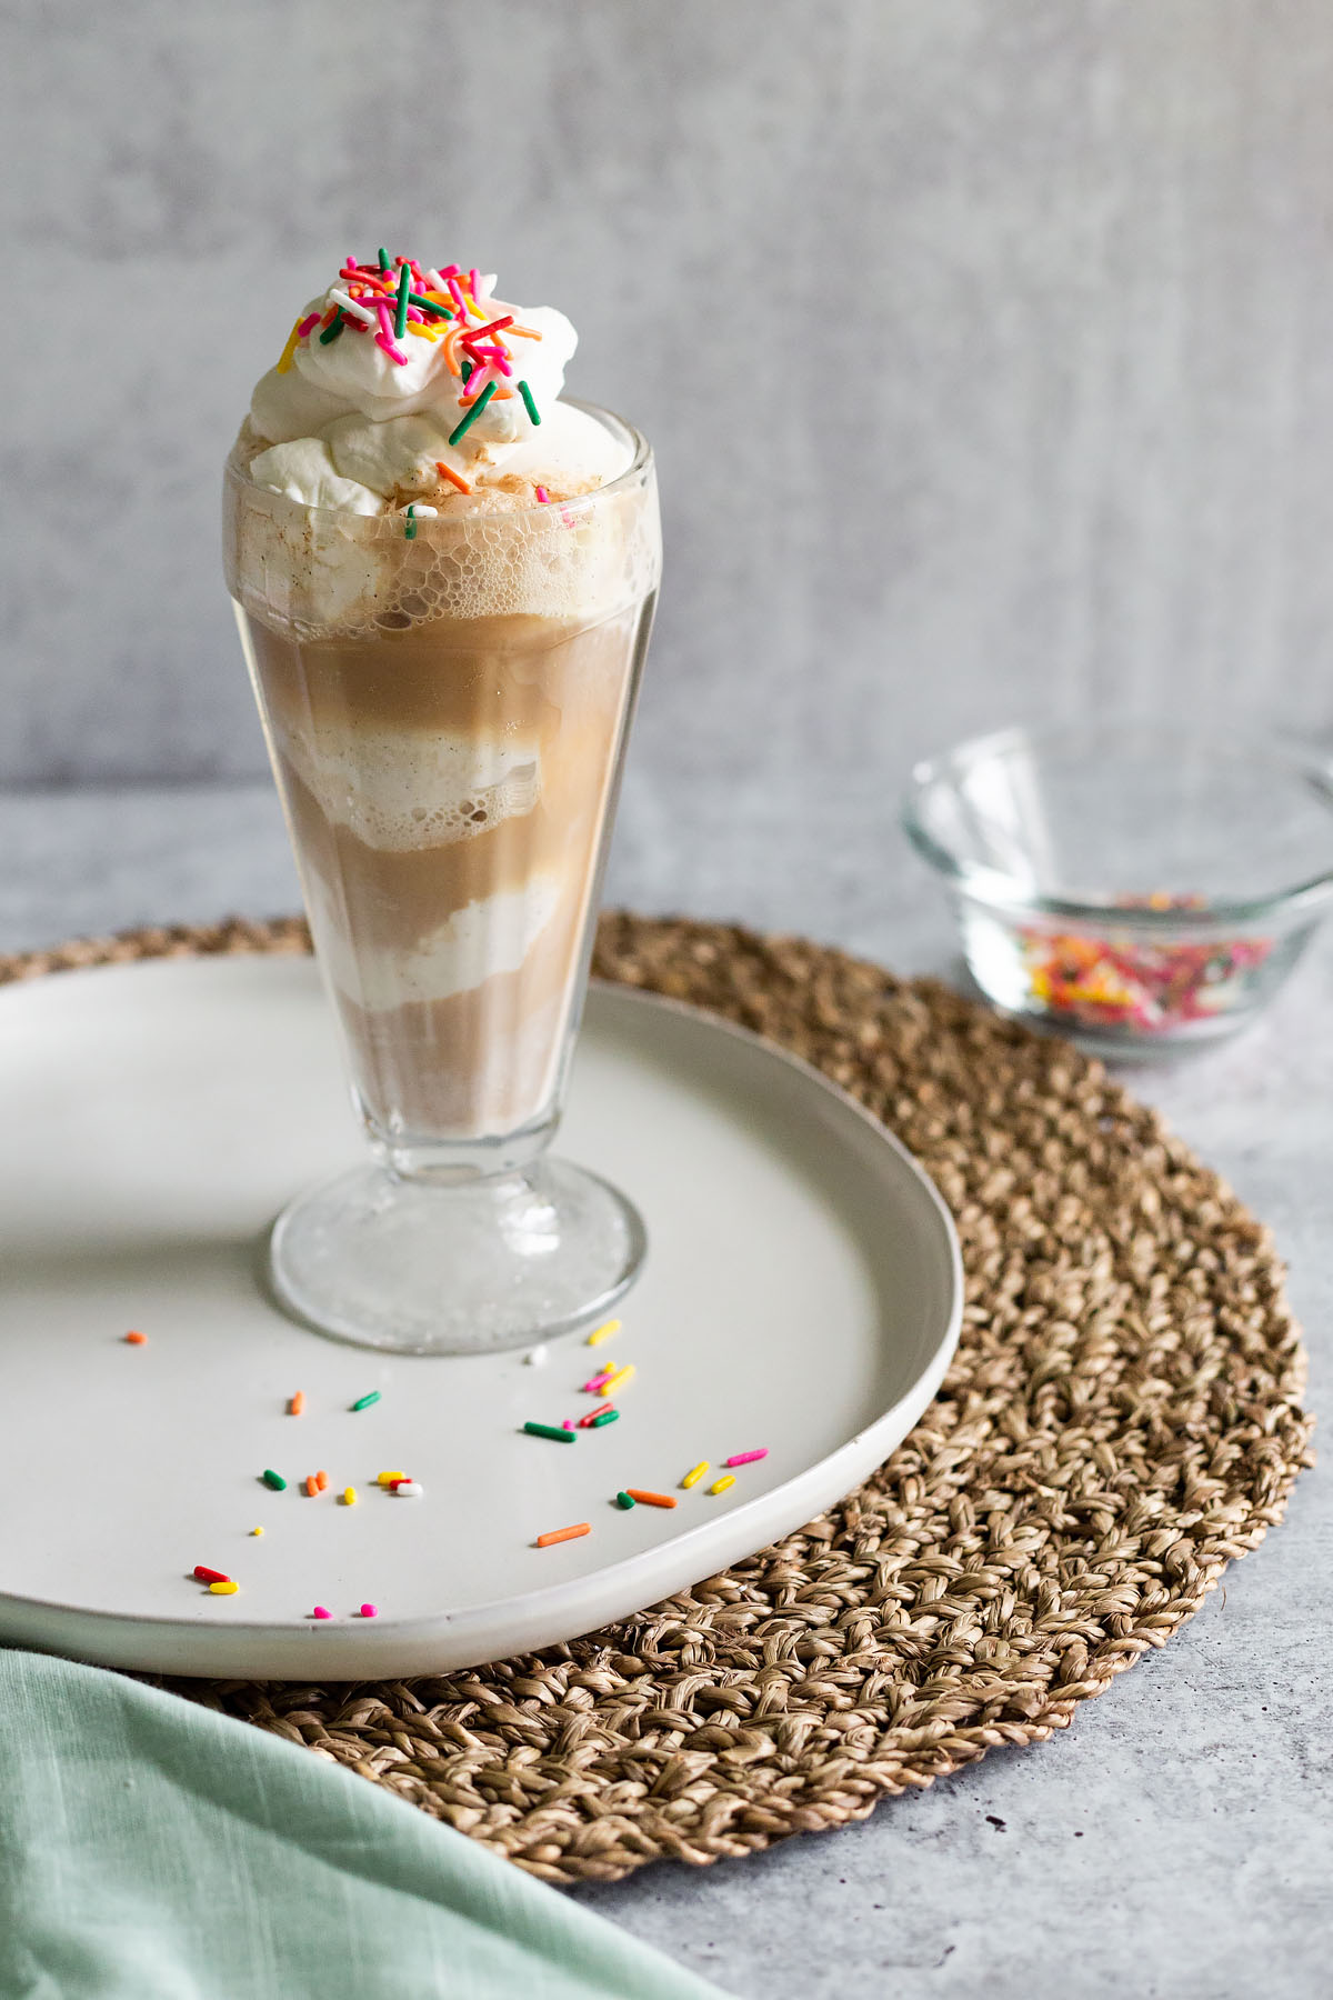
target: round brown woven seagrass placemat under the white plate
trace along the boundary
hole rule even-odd
[[[134,932],[0,980],[276,950],[308,950],[304,926]],[[933,980],[731,926],[610,914],[596,970],[759,1030],[921,1160],[967,1270],[941,1394],[841,1506],[568,1646],[412,1682],[168,1682],[548,1882],[749,1854],[1065,1728],[1309,1464],[1267,1230],[1097,1062]]]

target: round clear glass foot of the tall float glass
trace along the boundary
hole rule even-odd
[[[638,1208],[568,1160],[454,1186],[356,1168],[298,1196],[270,1238],[296,1318],[394,1354],[498,1354],[594,1324],[640,1274]]]

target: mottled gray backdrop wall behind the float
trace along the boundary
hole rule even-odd
[[[0,782],[262,766],[218,462],[384,240],[566,306],[658,442],[664,796],[1093,700],[1333,720],[1325,0],[4,20]]]

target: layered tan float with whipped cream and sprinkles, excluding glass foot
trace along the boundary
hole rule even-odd
[[[660,574],[646,442],[560,400],[574,328],[494,286],[348,260],[226,472],[228,586],[312,936],[376,1198],[404,1212],[426,1184],[472,1184],[482,1212],[478,1182],[578,1172],[542,1156]]]

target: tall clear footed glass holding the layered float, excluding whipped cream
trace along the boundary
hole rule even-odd
[[[662,542],[652,454],[566,502],[408,524],[226,472],[226,574],[364,1168],[298,1196],[300,1318],[460,1354],[590,1324],[646,1252],[548,1154],[578,1036]],[[414,532],[412,532],[414,530]]]

